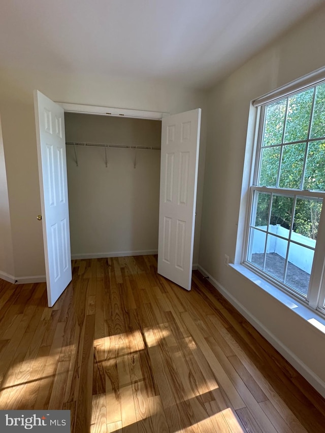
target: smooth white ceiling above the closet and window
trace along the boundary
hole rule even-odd
[[[324,0],[0,0],[0,65],[208,87]]]

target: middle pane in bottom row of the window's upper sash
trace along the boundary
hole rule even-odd
[[[305,150],[305,143],[283,146],[279,180],[279,186],[281,188],[300,188]]]

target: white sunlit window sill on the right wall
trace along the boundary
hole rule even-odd
[[[235,271],[237,271],[239,274],[248,278],[248,280],[250,280],[256,286],[276,298],[281,304],[294,311],[296,314],[310,323],[314,328],[318,329],[318,331],[325,335],[325,318],[322,317],[316,310],[307,307],[303,303],[299,302],[298,299],[275,287],[268,281],[264,280],[261,276],[248,269],[245,265],[229,264],[229,266],[235,269]]]

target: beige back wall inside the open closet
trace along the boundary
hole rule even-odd
[[[68,142],[158,150],[67,146],[72,257],[158,250],[161,121],[66,113]],[[134,162],[136,157],[136,168]]]

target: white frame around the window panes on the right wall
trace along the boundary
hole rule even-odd
[[[244,217],[244,225],[240,223],[238,229],[238,239],[241,239],[241,246],[238,245],[236,248],[235,264],[241,263],[255,274],[263,277],[263,279],[270,282],[275,287],[281,289],[290,296],[294,296],[299,299],[300,302],[305,304],[307,307],[317,310],[318,313],[325,315],[325,193],[318,191],[309,190],[295,190],[286,188],[273,188],[273,187],[263,187],[257,186],[257,180],[259,176],[259,165],[261,159],[262,151],[262,138],[264,130],[264,119],[265,119],[265,108],[273,102],[280,101],[283,98],[289,97],[296,93],[307,90],[308,88],[313,88],[319,84],[325,82],[325,68],[321,68],[313,73],[302,77],[294,82],[291,82],[281,88],[261,96],[251,102],[251,110],[248,122],[248,134],[247,134],[247,146],[246,158],[249,159],[250,163],[250,174],[249,179],[243,179],[243,189],[242,198],[243,203],[241,204],[240,216]],[[247,160],[245,158],[245,165],[247,165]],[[246,167],[247,168],[247,167]],[[245,168],[244,168],[245,175]],[[247,175],[246,175],[247,177]],[[244,185],[247,185],[247,188]],[[245,194],[246,190],[246,194]],[[290,196],[296,197],[315,197],[323,199],[323,206],[320,215],[320,221],[318,226],[317,242],[314,252],[314,260],[312,264],[312,270],[310,274],[309,289],[307,297],[300,295],[296,291],[291,291],[284,285],[276,280],[273,280],[271,276],[266,274],[263,270],[257,269],[250,262],[246,260],[248,254],[248,243],[249,243],[249,231],[250,231],[250,221],[253,212],[253,194],[254,191],[267,192],[267,193],[284,193]],[[243,207],[245,209],[243,209]],[[243,221],[243,220],[242,220]]]

